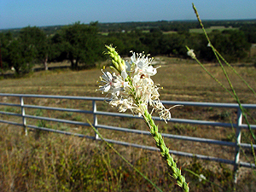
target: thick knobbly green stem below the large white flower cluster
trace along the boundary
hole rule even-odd
[[[148,125],[150,133],[154,138],[155,145],[160,149],[160,154],[164,160],[166,160],[167,167],[170,172],[172,172],[172,177],[177,181],[177,185],[183,189],[183,191],[189,191],[189,184],[186,183],[185,177],[183,177],[181,170],[177,168],[175,161],[173,160],[171,154],[169,153],[169,148],[166,147],[163,137],[158,132],[158,126],[154,124],[148,110],[145,110],[143,117]]]

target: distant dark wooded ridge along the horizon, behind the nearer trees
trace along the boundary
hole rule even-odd
[[[224,26],[226,28],[240,28],[241,26],[256,26],[253,20],[203,20],[204,26]],[[119,22],[119,23],[97,23],[100,32],[124,32],[134,30],[155,30],[162,32],[189,32],[189,29],[201,28],[197,20],[159,20],[147,22]],[[53,34],[63,26],[39,26],[48,35]],[[0,32],[17,33],[21,28],[1,29]]]

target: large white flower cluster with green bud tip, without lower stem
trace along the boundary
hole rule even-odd
[[[132,53],[128,62],[122,60],[112,46],[107,48],[107,54],[112,58],[113,73],[102,70],[99,90],[111,95],[109,104],[119,108],[119,112],[130,109],[139,116],[148,110],[149,104],[153,107],[152,112],[159,113],[161,119],[171,119],[170,108],[166,109],[159,100],[158,84],[150,78],[157,73],[151,65],[153,59],[143,53]]]

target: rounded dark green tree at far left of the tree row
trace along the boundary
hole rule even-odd
[[[6,36],[6,35],[5,35]],[[45,33],[36,26],[27,26],[20,30],[17,37],[3,41],[3,60],[9,68],[14,67],[18,74],[29,73],[35,61],[44,62],[47,69],[48,42]]]

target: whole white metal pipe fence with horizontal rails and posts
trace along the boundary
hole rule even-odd
[[[0,93],[0,96],[5,96],[7,98],[9,97],[18,97],[20,98],[20,103],[9,103],[9,102],[0,102],[0,106],[7,106],[9,108],[20,108],[20,113],[13,113],[8,111],[0,110],[0,114],[8,115],[8,116],[17,116],[22,119],[22,123],[17,123],[13,121],[8,121],[4,119],[0,119],[0,123],[3,124],[9,124],[9,125],[18,125],[22,126],[24,128],[25,134],[27,134],[27,128],[33,129],[33,130],[42,130],[42,131],[51,131],[56,133],[61,133],[65,135],[72,135],[76,137],[86,137],[89,139],[95,139],[95,140],[101,140],[101,138],[98,137],[97,134],[95,134],[94,137],[86,136],[79,133],[73,133],[69,131],[61,131],[61,130],[55,130],[50,129],[46,127],[41,127],[37,125],[28,125],[26,124],[26,119],[38,119],[38,120],[47,120],[47,121],[54,121],[58,123],[65,123],[65,124],[71,124],[71,125],[82,125],[82,126],[90,126],[89,123],[75,121],[75,120],[67,120],[67,119],[56,119],[56,118],[49,118],[49,117],[42,117],[42,116],[36,116],[36,115],[30,115],[26,114],[26,108],[34,108],[34,109],[47,109],[47,110],[54,110],[54,111],[61,111],[61,112],[70,112],[70,113],[88,113],[93,115],[93,126],[96,127],[96,129],[105,129],[105,130],[111,130],[111,131],[125,131],[130,133],[136,133],[141,135],[150,135],[149,131],[142,131],[142,130],[134,130],[129,128],[123,128],[123,127],[117,127],[117,126],[111,126],[111,125],[100,125],[98,124],[98,116],[114,116],[114,117],[123,117],[123,118],[135,118],[135,119],[142,119],[142,117],[139,117],[137,115],[132,115],[128,113],[110,113],[110,112],[104,112],[104,111],[98,111],[96,108],[96,102],[104,102],[106,101],[106,98],[102,97],[88,97],[88,96],[49,96],[49,95],[28,95],[28,94],[6,94],[6,93]],[[40,106],[40,105],[28,105],[24,103],[24,98],[32,97],[32,98],[49,98],[49,99],[67,99],[67,100],[84,100],[84,101],[90,101],[91,102],[91,110],[82,110],[82,109],[75,109],[75,108],[54,108],[54,107],[47,107],[47,106]],[[247,125],[242,124],[242,113],[241,109],[239,108],[238,104],[235,103],[215,103],[215,102],[174,102],[174,101],[161,101],[163,104],[166,105],[183,105],[183,106],[194,106],[194,107],[207,107],[207,108],[235,108],[237,111],[237,122],[236,124],[231,123],[222,123],[222,122],[215,122],[215,121],[207,121],[207,120],[195,120],[195,119],[170,119],[168,121],[173,123],[183,123],[183,124],[192,124],[192,125],[211,125],[211,126],[220,126],[220,127],[230,127],[236,129],[236,142],[226,142],[226,141],[219,141],[215,139],[208,139],[208,138],[201,138],[201,137],[187,137],[187,136],[179,136],[179,135],[173,135],[173,134],[167,134],[162,133],[163,137],[166,138],[172,138],[177,140],[184,140],[184,141],[190,141],[190,142],[199,142],[199,143],[208,143],[208,144],[216,144],[221,146],[230,146],[232,148],[235,148],[235,154],[234,154],[234,160],[225,160],[217,157],[202,155],[202,154],[192,154],[182,151],[176,151],[176,150],[170,150],[170,154],[177,154],[177,155],[183,155],[187,157],[192,158],[198,158],[201,160],[212,160],[217,162],[222,162],[226,164],[230,164],[234,166],[235,172],[238,170],[239,166],[244,167],[254,167],[254,164],[251,164],[249,162],[242,162],[240,160],[240,148],[256,148],[255,144],[250,143],[241,143],[241,130],[242,129],[251,129],[256,130],[256,125]],[[252,108],[256,109],[255,104],[242,104],[243,108]],[[0,115],[1,118],[1,115]],[[159,117],[153,117],[154,120],[161,120]],[[120,142],[112,139],[105,139],[108,143],[116,143],[120,145],[125,146],[131,146],[135,148],[144,148],[148,150],[154,150],[158,151],[158,148],[152,147],[152,146],[146,146],[136,143],[126,143],[126,142]]]

